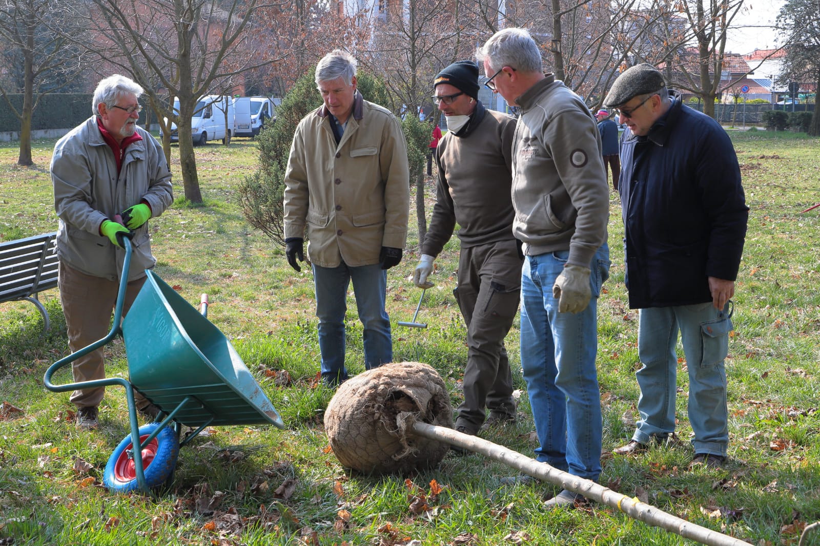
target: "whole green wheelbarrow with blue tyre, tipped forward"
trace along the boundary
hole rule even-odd
[[[125,261],[112,330],[103,339],[54,362],[43,382],[54,392],[108,385],[125,388],[131,433],[108,459],[103,483],[122,493],[134,489],[149,493],[171,479],[180,447],[208,425],[270,424],[280,429],[285,425],[230,341],[207,320],[205,294],[202,312],[198,312],[153,271],[146,270],[148,278],[128,316],[122,319],[131,242],[126,237],[120,242]],[[52,383],[57,370],[118,334],[125,341],[129,380],[112,377]],[[156,422],[139,426],[134,389],[162,410]],[[195,430],[180,442],[183,425]]]

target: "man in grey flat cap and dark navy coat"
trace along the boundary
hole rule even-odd
[[[672,92],[674,93],[674,92]],[[693,465],[727,458],[723,359],[749,207],[731,140],[712,118],[686,107],[649,64],[618,76],[604,104],[625,123],[621,207],[629,305],[640,309],[640,420],[613,453],[640,452],[675,430],[681,334],[689,372]]]

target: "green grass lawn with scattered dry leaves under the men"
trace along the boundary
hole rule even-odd
[[[640,366],[613,193],[613,267],[599,300],[600,481],[752,544],[797,544],[800,530],[820,520],[820,209],[800,214],[820,202],[820,145],[800,134],[731,135],[751,211],[727,359],[730,461],[722,470],[687,468],[691,428],[682,359],[681,444],[629,458],[610,454],[634,428]],[[0,241],[57,229],[48,176],[53,145],[35,142],[35,166],[25,168],[14,165],[14,143],[0,143]],[[103,469],[128,433],[122,389],[107,389],[99,430],[77,430],[68,394],[43,388],[43,372],[67,350],[57,290],[40,294],[52,316],[52,332],[44,337],[34,306],[3,303],[0,544],[687,544],[605,506],[548,512],[541,499],[552,486],[500,485],[512,471],[475,454],[450,452],[435,470],[407,476],[345,471],[322,425],[333,393],[312,384],[319,362],[312,275],[292,271],[284,251],[253,230],[239,207],[237,184],[256,169],[256,143],[235,139],[228,148],[210,143],[196,152],[205,204],[185,202],[175,179],[174,206],[151,221],[156,271],[190,303],[209,294],[209,320],[232,339],[287,428],[207,430],[180,451],[175,480],[162,494],[109,493],[101,486]],[[178,157],[172,170],[179,171]],[[428,195],[429,217],[431,181]],[[420,295],[408,281],[418,257],[412,213],[411,222],[403,262],[388,275],[394,358],[434,366],[455,407],[467,360],[452,294],[458,241],[450,241],[431,277],[436,286],[418,317],[429,327],[400,327],[395,323],[411,319]],[[358,373],[362,330],[352,292],[348,296],[347,364]],[[517,345],[516,323],[507,346],[522,393],[519,421],[483,436],[531,456],[537,444]],[[273,372],[282,370],[289,382],[282,374],[276,380]],[[107,346],[107,373],[127,374],[121,341]],[[70,375],[55,379],[68,382]],[[294,488],[279,489],[291,479]],[[420,494],[428,495],[430,510],[411,508]],[[808,544],[820,544],[820,531]]]

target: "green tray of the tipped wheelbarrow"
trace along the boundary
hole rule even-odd
[[[153,271],[122,322],[130,382],[182,425],[284,427],[225,335]]]

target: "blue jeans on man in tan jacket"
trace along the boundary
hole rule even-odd
[[[344,313],[348,309],[350,280],[353,280],[359,321],[364,326],[365,368],[370,370],[385,362],[393,362],[390,319],[385,312],[387,271],[381,269],[379,263],[358,267],[349,267],[344,262],[338,267],[314,264],[321,376],[329,384],[338,384],[348,378],[344,367]]]

